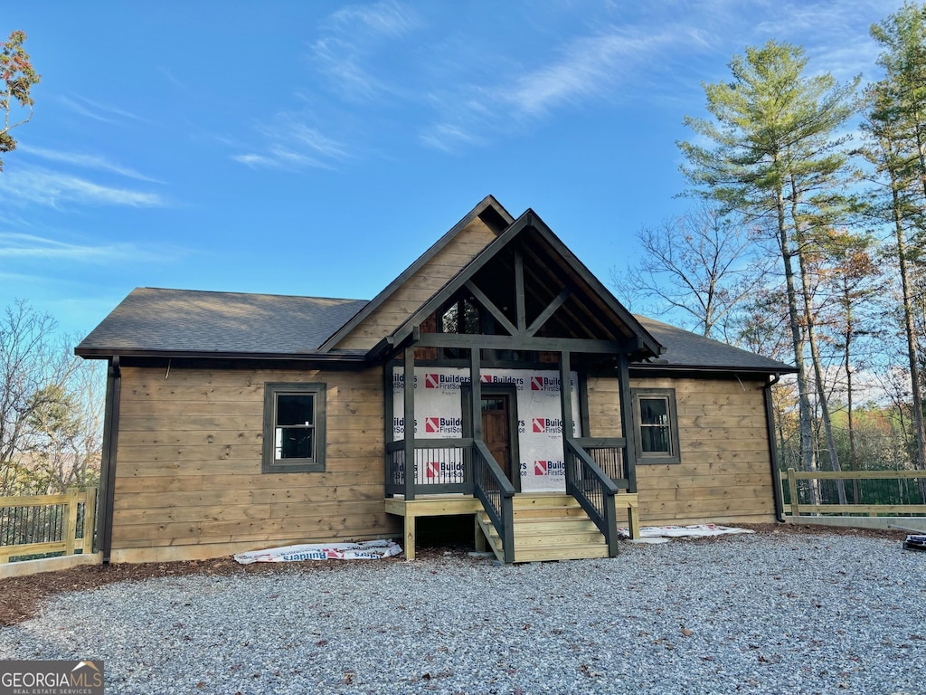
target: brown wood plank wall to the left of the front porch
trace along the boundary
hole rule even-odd
[[[261,473],[267,382],[327,385],[324,473]],[[382,418],[382,369],[123,367],[113,562],[400,535],[384,511]]]

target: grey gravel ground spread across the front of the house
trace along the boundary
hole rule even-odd
[[[926,693],[926,553],[755,535],[496,566],[462,552],[57,595],[0,659],[107,693]]]

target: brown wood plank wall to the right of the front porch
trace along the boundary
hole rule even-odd
[[[632,378],[632,388],[672,388],[681,463],[637,463],[645,525],[774,521],[762,382]],[[616,436],[618,381],[588,381],[591,436]]]

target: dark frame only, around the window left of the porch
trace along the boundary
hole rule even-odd
[[[264,384],[263,473],[324,473],[326,395],[328,385],[305,382],[267,382]],[[313,456],[308,459],[277,459],[277,397],[311,395],[313,414]]]

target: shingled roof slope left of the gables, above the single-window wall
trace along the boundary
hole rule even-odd
[[[139,287],[74,352],[81,357],[315,356],[322,341],[366,304],[362,299]]]

